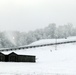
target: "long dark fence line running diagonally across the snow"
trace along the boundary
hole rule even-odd
[[[36,47],[43,47],[43,46],[51,46],[51,45],[68,44],[68,43],[75,43],[75,42],[76,41],[65,41],[65,42],[49,43],[49,44],[34,45],[34,46],[29,46],[28,45],[28,46],[23,46],[23,47],[0,49],[0,52],[3,52],[3,51],[13,51],[13,50],[21,50],[21,49],[29,49],[29,48],[36,48]]]

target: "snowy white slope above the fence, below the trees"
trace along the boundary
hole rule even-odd
[[[50,44],[57,42],[66,42],[66,41],[76,41],[76,36],[68,37],[67,39],[42,39],[36,42],[31,43],[30,45],[42,45],[42,44]]]

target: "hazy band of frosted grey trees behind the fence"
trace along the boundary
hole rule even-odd
[[[3,31],[0,32],[0,48],[10,48],[28,45],[41,39],[65,38],[76,36],[76,27],[72,24],[56,26],[55,23],[49,24],[43,29],[35,31]]]

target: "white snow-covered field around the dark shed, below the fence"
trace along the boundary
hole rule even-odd
[[[75,43],[15,52],[35,55],[36,63],[0,62],[0,75],[76,75]]]

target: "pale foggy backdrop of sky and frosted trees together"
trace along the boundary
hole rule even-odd
[[[0,0],[0,48],[76,36],[75,0]]]

